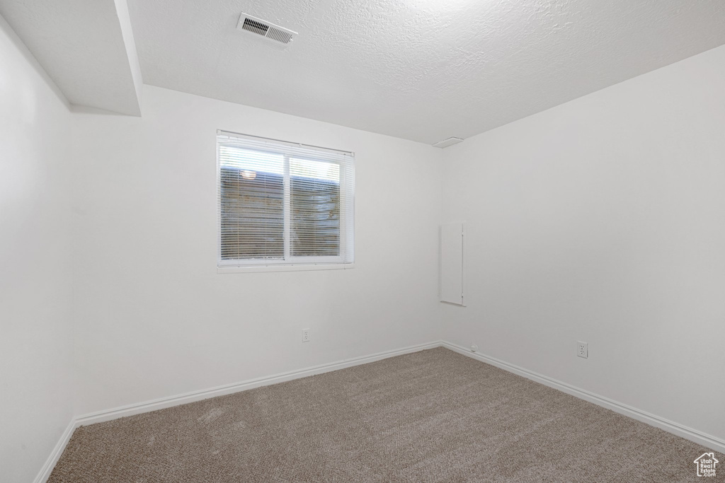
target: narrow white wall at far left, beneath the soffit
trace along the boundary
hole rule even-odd
[[[73,416],[70,112],[0,17],[0,481],[36,476]]]

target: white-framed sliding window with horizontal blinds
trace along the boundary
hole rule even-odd
[[[220,269],[352,266],[353,159],[218,131]]]

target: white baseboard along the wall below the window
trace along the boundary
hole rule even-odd
[[[409,347],[386,350],[384,352],[370,354],[369,356],[343,359],[330,364],[320,364],[319,366],[307,367],[297,371],[287,371],[280,374],[274,374],[272,376],[257,377],[256,379],[249,379],[243,382],[212,387],[211,389],[186,392],[185,394],[171,396],[170,398],[159,398],[146,401],[145,403],[129,404],[128,406],[121,406],[119,408],[108,409],[106,411],[88,413],[83,416],[78,416],[75,419],[75,427],[110,421],[111,419],[123,418],[125,416],[133,416],[134,414],[147,413],[149,411],[157,411],[157,409],[170,408],[181,404],[194,403],[195,401],[202,399],[215,398],[221,395],[232,394],[233,392],[254,389],[254,387],[268,386],[278,384],[279,382],[291,381],[292,379],[299,379],[301,377],[337,371],[339,369],[345,369],[346,367],[368,364],[369,362],[380,361],[381,359],[394,356],[402,356],[403,354],[418,352],[419,350],[432,349],[440,347],[441,345],[442,341],[410,345]]]

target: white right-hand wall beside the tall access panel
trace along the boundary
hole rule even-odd
[[[725,437],[724,86],[725,46],[447,148],[444,337]]]

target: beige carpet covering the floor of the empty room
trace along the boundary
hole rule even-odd
[[[80,427],[49,481],[694,482],[703,452],[435,348]]]

